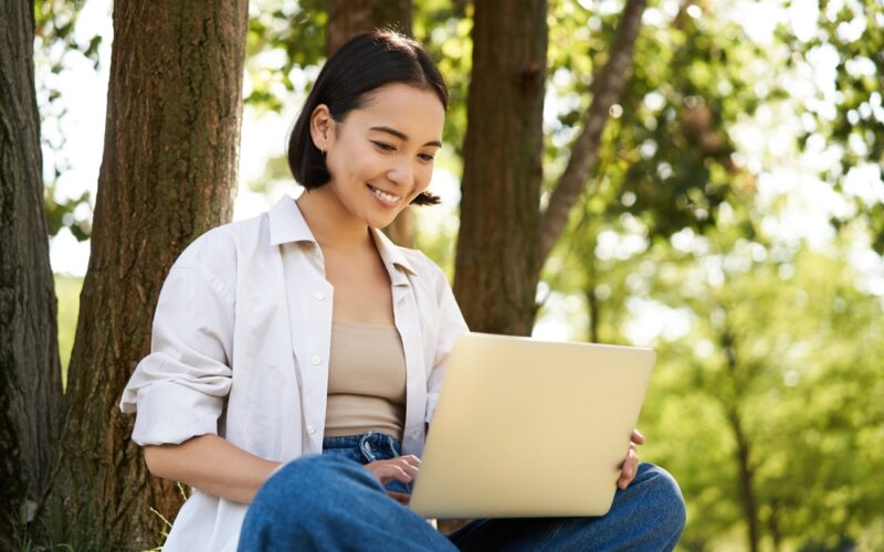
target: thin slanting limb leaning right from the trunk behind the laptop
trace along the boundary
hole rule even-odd
[[[570,212],[589,178],[589,169],[599,157],[599,144],[611,106],[620,99],[632,70],[635,38],[641,28],[646,0],[628,0],[623,8],[611,53],[604,68],[592,83],[592,105],[583,119],[583,130],[571,147],[571,157],[544,213],[540,233],[540,259],[549,255],[565,230]]]

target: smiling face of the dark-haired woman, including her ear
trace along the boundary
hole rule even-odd
[[[427,189],[441,147],[445,110],[431,92],[390,84],[340,123],[319,106],[313,140],[325,149],[327,187],[344,211],[371,227],[389,225]]]

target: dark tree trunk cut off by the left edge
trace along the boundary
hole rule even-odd
[[[34,92],[34,7],[4,0],[0,11],[0,550],[12,550],[46,482],[62,385]]]

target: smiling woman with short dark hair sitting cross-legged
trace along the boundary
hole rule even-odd
[[[624,516],[646,526],[630,530],[642,539],[677,541],[677,487],[639,468],[634,446],[620,486],[638,479],[614,505],[621,524],[599,521],[617,514],[481,521],[450,540],[399,503],[466,325],[442,272],[377,229],[438,201],[425,189],[446,103],[417,42],[355,38],[328,60],[292,131],[288,162],[305,192],[208,232],[176,262],[151,353],[122,402],[138,413],[133,439],[150,471],[194,489],[166,550],[488,549],[504,537],[535,549],[550,531],[567,535],[558,546],[608,533],[598,545],[629,545]],[[666,508],[662,523],[648,521]]]

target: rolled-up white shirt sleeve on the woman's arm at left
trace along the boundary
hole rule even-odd
[[[230,392],[233,295],[186,257],[162,286],[150,354],[136,367],[119,405],[136,413],[131,438],[143,446],[218,434]]]

